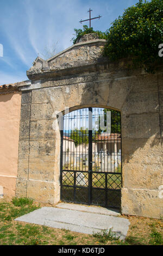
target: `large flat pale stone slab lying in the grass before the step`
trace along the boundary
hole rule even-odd
[[[112,228],[124,240],[130,222],[126,218],[77,210],[43,207],[15,219],[15,221],[46,225],[79,233],[93,234]]]

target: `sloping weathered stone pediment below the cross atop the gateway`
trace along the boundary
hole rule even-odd
[[[102,58],[104,44],[104,39],[86,41],[84,38],[52,58],[43,60],[37,57],[33,62],[32,68],[27,71],[27,76],[32,79],[34,75],[43,75],[43,73],[49,73],[49,71],[59,71],[98,63]]]

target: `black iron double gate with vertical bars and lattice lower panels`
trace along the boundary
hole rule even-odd
[[[121,113],[82,108],[63,117],[61,200],[121,206]]]

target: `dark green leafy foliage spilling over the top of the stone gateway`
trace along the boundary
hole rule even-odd
[[[89,32],[86,27],[76,29],[77,38]],[[106,39],[103,55],[111,61],[131,58],[133,68],[144,68],[153,73],[156,65],[162,64],[159,57],[159,44],[163,43],[163,1],[139,3],[124,10],[106,32],[100,32],[101,38]],[[74,39],[75,42],[75,39]]]

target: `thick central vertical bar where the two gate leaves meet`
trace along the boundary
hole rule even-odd
[[[89,108],[89,205],[92,202],[92,108]]]

